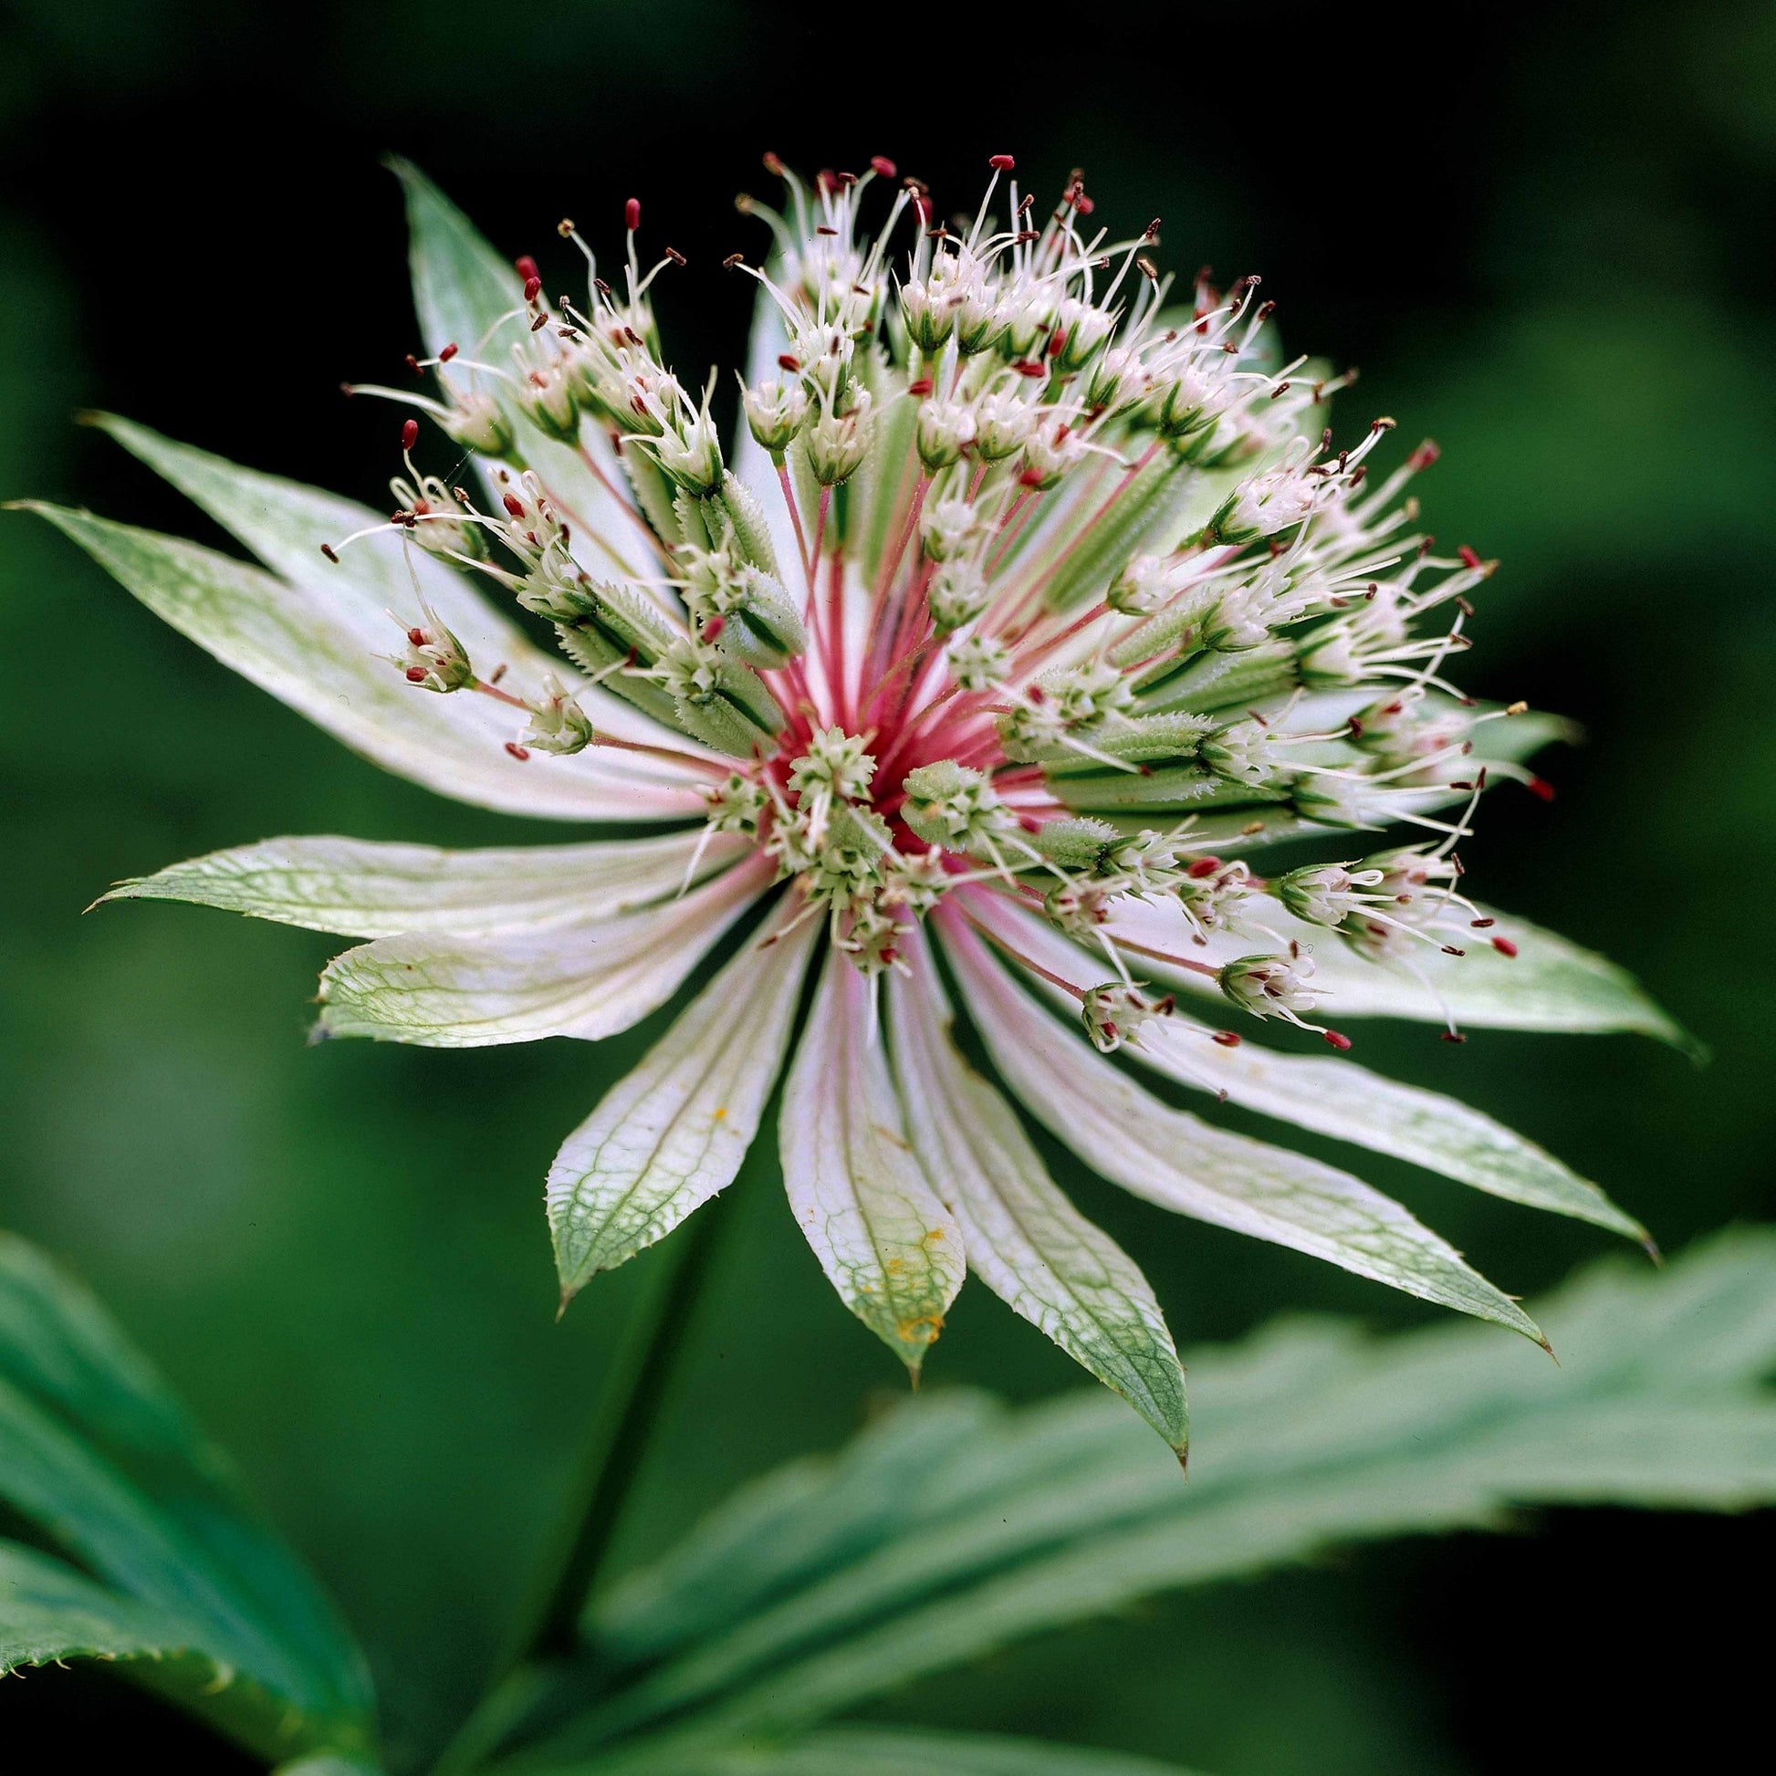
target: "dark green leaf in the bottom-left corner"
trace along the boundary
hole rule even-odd
[[[78,1652],[83,1613],[96,1655],[186,1652],[169,1687],[266,1756],[368,1742],[369,1680],[327,1598],[98,1304],[5,1236],[0,1501],[99,1581],[18,1552],[16,1632],[60,1613]],[[210,1709],[218,1668],[245,1689]]]

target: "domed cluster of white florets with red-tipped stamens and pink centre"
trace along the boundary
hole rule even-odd
[[[1108,238],[1080,174],[1037,215],[995,156],[952,226],[884,160],[812,185],[767,167],[789,204],[741,210],[774,252],[726,261],[781,346],[741,385],[741,474],[714,378],[693,396],[662,362],[650,289],[684,259],[641,270],[630,201],[620,289],[563,222],[584,300],[549,304],[520,259],[490,336],[419,366],[448,368],[444,400],[410,400],[483,458],[487,494],[419,474],[408,421],[396,527],[504,586],[707,765],[710,829],[757,842],[867,973],[941,897],[1005,893],[1117,964],[1082,1007],[1115,1048],[1170,1012],[1124,966],[1131,899],[1176,904],[1188,945],[1266,940],[1163,959],[1305,1028],[1312,961],[1279,925],[1373,959],[1460,954],[1487,925],[1456,892],[1474,735],[1520,705],[1478,714],[1442,677],[1490,563],[1414,531],[1407,483],[1435,449],[1371,478],[1392,421],[1334,444],[1325,401],[1350,378],[1277,361],[1257,279],[1204,272],[1179,297],[1158,222]],[[892,197],[865,229],[872,186]],[[575,536],[545,444],[613,494],[648,572],[613,575],[622,551]],[[1453,622],[1419,634],[1439,609]],[[527,714],[520,757],[599,741],[584,686],[511,696],[428,613],[407,639],[412,684]],[[1229,856],[1394,822],[1431,836],[1275,881]]]

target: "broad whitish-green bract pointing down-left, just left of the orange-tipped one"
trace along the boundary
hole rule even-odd
[[[812,924],[751,938],[549,1167],[567,1300],[733,1183],[789,1048]]]

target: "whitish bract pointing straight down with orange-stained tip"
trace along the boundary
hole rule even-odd
[[[963,1286],[963,1234],[906,1144],[868,984],[836,948],[778,1126],[783,1185],[821,1268],[916,1373]]]

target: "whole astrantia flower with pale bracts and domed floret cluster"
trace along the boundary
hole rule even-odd
[[[117,890],[371,940],[323,975],[334,1035],[597,1039],[696,982],[549,1174],[565,1293],[733,1179],[780,1076],[796,1220],[909,1368],[973,1268],[1177,1447],[1153,1291],[1025,1114],[1151,1202],[1533,1337],[1399,1204],[1142,1071],[1643,1238],[1460,1103],[1243,1041],[1343,1051],[1366,1016],[1671,1034],[1609,964],[1465,895],[1479,792],[1529,780],[1550,725],[1449,684],[1490,563],[1419,535],[1430,446],[1387,469],[1392,421],[1328,428],[1339,378],[1275,361],[1256,279],[1177,291],[1158,224],[1099,229],[1078,178],[1037,208],[1005,156],[957,229],[886,162],[783,174],[785,213],[742,201],[765,265],[730,261],[758,291],[730,451],[714,382],[662,355],[650,289],[682,261],[643,272],[634,201],[609,277],[561,224],[588,279],[551,302],[405,178],[433,392],[380,391],[417,410],[392,520],[123,421],[270,572],[48,515],[389,769],[657,824],[274,840]]]

